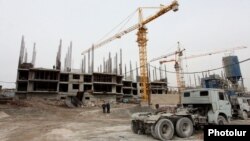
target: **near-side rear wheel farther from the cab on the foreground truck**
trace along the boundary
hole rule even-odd
[[[174,125],[169,119],[161,119],[155,126],[155,133],[160,140],[170,140],[174,136]]]

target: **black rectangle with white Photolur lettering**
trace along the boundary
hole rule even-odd
[[[250,125],[206,125],[204,141],[234,140],[249,141]]]

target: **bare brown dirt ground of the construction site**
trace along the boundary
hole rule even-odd
[[[103,114],[98,106],[69,109],[61,101],[41,99],[0,104],[0,140],[155,141],[130,130],[130,116],[139,110],[133,104],[119,104]],[[250,120],[233,124],[250,124]],[[202,131],[196,131],[190,138],[173,140],[202,139]]]

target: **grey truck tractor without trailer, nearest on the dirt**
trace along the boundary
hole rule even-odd
[[[223,125],[230,122],[232,107],[223,89],[198,88],[185,90],[176,112],[139,112],[131,116],[131,129],[136,134],[151,134],[159,140],[174,135],[190,137],[204,125]]]

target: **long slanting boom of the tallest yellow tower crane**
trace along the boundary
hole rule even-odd
[[[124,31],[116,33],[114,36],[112,36],[110,38],[107,38],[107,39],[105,39],[105,40],[103,40],[103,41],[101,41],[99,43],[94,44],[94,47],[90,47],[87,50],[83,51],[82,55],[84,55],[85,53],[91,51],[92,48],[97,49],[97,48],[99,48],[99,47],[101,47],[101,46],[103,46],[103,45],[105,45],[105,44],[107,44],[107,43],[109,43],[109,42],[111,42],[111,41],[113,41],[115,39],[120,39],[123,35],[125,35],[125,34],[131,32],[131,31],[134,31],[134,30],[146,25],[147,23],[149,23],[149,22],[153,21],[154,19],[162,16],[163,14],[167,13],[170,10],[173,10],[173,11],[178,10],[178,2],[177,1],[173,1],[170,5],[162,7],[156,14],[154,14],[154,15],[148,17],[147,19],[141,21],[141,23],[135,24],[135,25],[129,27],[128,29],[124,30]]]

